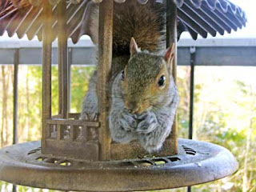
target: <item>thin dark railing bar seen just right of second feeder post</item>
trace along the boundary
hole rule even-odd
[[[68,87],[67,87],[67,90],[68,90],[68,105],[67,105],[67,111],[68,113],[70,113],[70,107],[71,107],[71,97],[72,97],[72,94],[71,94],[71,74],[72,74],[72,68],[71,68],[71,65],[72,65],[72,54],[73,54],[73,49],[72,48],[69,48],[68,49],[68,57],[67,57],[67,71],[68,71]]]

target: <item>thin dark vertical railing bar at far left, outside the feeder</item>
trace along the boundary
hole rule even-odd
[[[17,138],[17,125],[18,125],[18,62],[19,51],[14,50],[14,127],[13,127],[13,144],[18,141]],[[17,186],[13,185],[13,192],[17,191]]]

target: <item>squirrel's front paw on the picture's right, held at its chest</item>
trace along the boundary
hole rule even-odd
[[[155,114],[150,111],[143,112],[140,116],[138,116],[137,132],[140,134],[148,134],[152,132],[158,125],[158,119]]]

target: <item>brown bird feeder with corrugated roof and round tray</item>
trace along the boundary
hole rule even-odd
[[[123,0],[115,2],[126,6]],[[146,4],[147,1],[138,2]],[[176,123],[162,150],[155,154],[147,154],[138,142],[120,144],[111,141],[106,84],[114,67],[111,66],[114,0],[72,0],[68,3],[57,0],[9,0],[9,3],[14,9],[0,14],[2,32],[7,30],[10,36],[17,33],[20,38],[24,34],[29,38],[38,35],[43,42],[42,140],[0,150],[1,180],[54,190],[159,190],[211,182],[238,169],[234,156],[222,146],[178,139]],[[27,11],[18,12],[25,4]],[[90,9],[97,4],[99,115],[82,120],[79,114],[69,114],[67,110],[67,39],[78,42],[82,34],[90,34],[86,21]],[[166,46],[173,42],[176,45],[177,35],[179,38],[184,30],[189,31],[193,38],[197,38],[198,34],[206,38],[208,33],[214,36],[217,32],[224,34],[224,31],[237,30],[246,22],[244,12],[226,0],[170,0],[166,1],[166,13]],[[13,22],[15,18],[21,23]],[[35,22],[38,20],[41,22]],[[6,23],[8,25],[4,26]],[[56,36],[59,110],[58,115],[52,115],[51,44]],[[175,58],[174,78],[176,66]]]

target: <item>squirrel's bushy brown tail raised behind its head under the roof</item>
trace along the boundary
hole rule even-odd
[[[94,22],[90,26],[91,38],[98,42],[98,11],[94,12]],[[113,54],[130,54],[130,38],[134,37],[142,50],[157,52],[166,37],[166,8],[155,0],[141,5],[137,0],[122,4],[114,3]],[[95,33],[97,31],[97,33]]]

